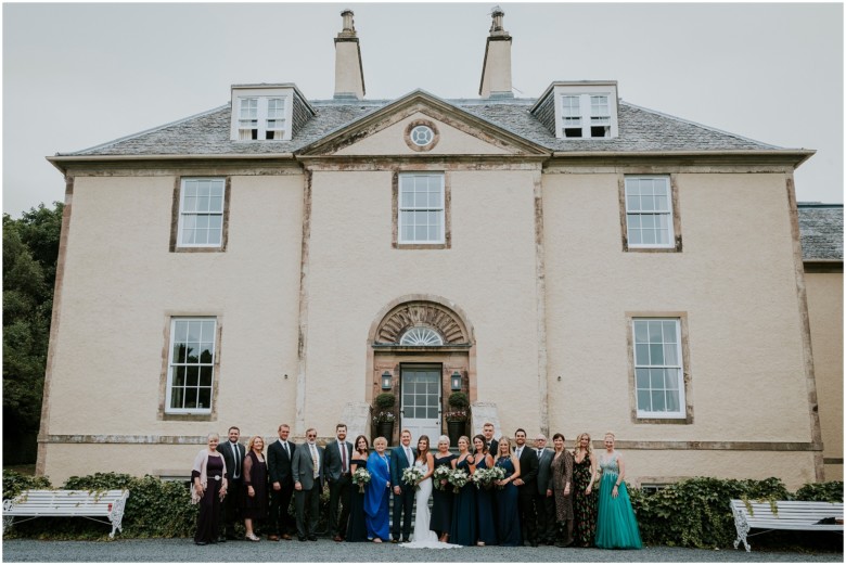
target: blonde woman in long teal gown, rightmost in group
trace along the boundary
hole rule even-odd
[[[605,453],[599,461],[600,480],[599,510],[597,517],[595,545],[604,549],[634,549],[643,547],[640,540],[638,521],[631,510],[629,492],[623,481],[626,465],[614,450],[614,434],[605,434]]]

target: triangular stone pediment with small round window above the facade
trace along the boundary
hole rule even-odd
[[[543,157],[549,152],[535,142],[421,90],[297,152],[298,157],[470,155]]]

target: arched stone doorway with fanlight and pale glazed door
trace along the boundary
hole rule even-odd
[[[430,436],[434,446],[445,433],[447,399],[461,390],[476,399],[473,329],[454,304],[431,295],[403,296],[375,317],[368,338],[368,400],[396,396],[399,431]]]

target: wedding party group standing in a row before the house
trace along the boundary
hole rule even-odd
[[[325,446],[317,445],[313,428],[299,445],[289,441],[289,425],[278,432],[279,440],[267,450],[260,436],[242,446],[234,426],[222,444],[209,434],[192,470],[192,500],[200,505],[196,544],[235,539],[238,519],[249,541],[260,540],[256,522],[271,541],[293,535],[317,541],[320,495],[328,486],[328,531],[338,542],[642,547],[625,463],[611,432],[601,454],[593,452],[587,433],[571,451],[562,434],[552,436],[551,448],[542,434],[529,447],[522,428],[513,438],[495,439],[490,423],[473,438],[462,436],[458,453],[447,436],[434,446],[425,435],[412,444],[408,429],[390,450],[384,437],[375,438],[372,449],[363,435],[347,441],[345,424]]]

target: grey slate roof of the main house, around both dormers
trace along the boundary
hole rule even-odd
[[[211,111],[114,140],[94,147],[59,153],[87,155],[261,155],[293,153],[323,136],[347,126],[392,103],[388,100],[339,102],[309,101],[317,111],[291,141],[230,141],[230,106]],[[556,139],[529,113],[534,99],[445,100],[490,124],[554,152],[653,152],[653,151],[771,151],[758,141],[719,131],[620,101],[619,136],[611,140]]]

